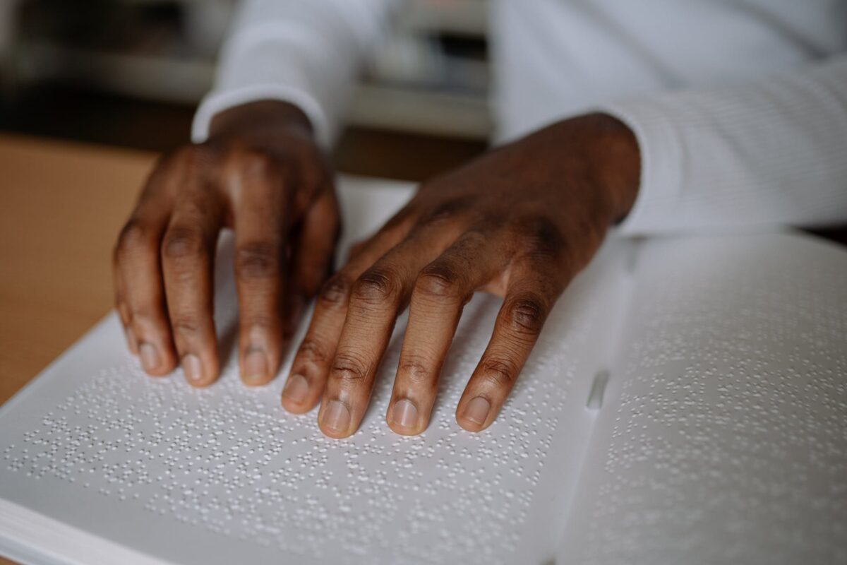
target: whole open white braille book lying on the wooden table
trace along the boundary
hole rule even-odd
[[[347,242],[407,186],[342,183]],[[468,304],[424,435],[145,376],[114,315],[0,409],[0,553],[65,563],[847,562],[847,252],[803,235],[608,238],[500,418],[454,410],[499,299]],[[283,367],[285,374],[287,366]]]

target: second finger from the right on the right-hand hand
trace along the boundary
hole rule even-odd
[[[506,268],[509,239],[502,231],[468,231],[418,275],[385,415],[398,434],[419,434],[429,424],[441,367],[462,308],[473,291]]]

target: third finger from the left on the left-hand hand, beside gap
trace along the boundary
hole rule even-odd
[[[280,368],[291,187],[264,158],[250,160],[235,205],[239,366],[246,385],[265,385]]]

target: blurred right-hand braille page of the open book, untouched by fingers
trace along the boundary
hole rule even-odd
[[[847,562],[847,252],[651,241],[557,563]]]

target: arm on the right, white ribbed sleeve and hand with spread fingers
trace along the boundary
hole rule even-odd
[[[408,304],[385,417],[398,433],[421,433],[462,306],[485,290],[503,305],[456,408],[463,428],[485,429],[612,222],[635,234],[844,219],[845,92],[842,59],[747,86],[621,102],[424,183],[318,293],[289,377],[301,403],[286,388],[283,404],[320,402],[324,433],[352,434]]]

